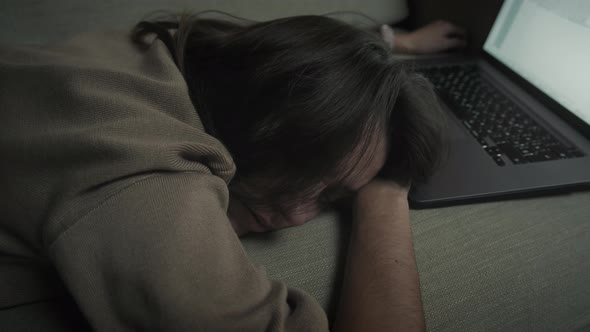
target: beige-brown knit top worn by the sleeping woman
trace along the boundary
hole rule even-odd
[[[0,47],[0,307],[69,293],[100,331],[324,331],[226,216],[235,165],[165,45]]]

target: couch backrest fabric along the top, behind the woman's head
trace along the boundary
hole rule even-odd
[[[151,11],[183,9],[215,9],[252,20],[357,11],[381,23],[393,23],[408,15],[405,0],[2,0],[0,43],[55,42],[80,31],[126,28]]]

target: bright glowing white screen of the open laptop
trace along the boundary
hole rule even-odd
[[[590,124],[590,1],[506,0],[484,50]]]

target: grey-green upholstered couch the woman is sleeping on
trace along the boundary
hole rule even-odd
[[[446,17],[470,28],[481,23],[473,17],[477,8],[465,9],[470,3],[490,7],[424,0],[7,0],[0,4],[0,42],[49,43],[82,30],[125,28],[152,10],[185,8],[255,20],[354,10],[406,27]],[[481,42],[486,27],[472,28]],[[429,331],[590,331],[589,191],[412,210],[411,224]],[[271,278],[307,291],[332,318],[349,225],[346,211],[327,211],[306,225],[242,242]],[[35,314],[37,329],[59,330],[43,319],[55,322],[72,310],[37,303],[1,310],[0,322]]]

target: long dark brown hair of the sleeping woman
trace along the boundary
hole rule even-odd
[[[182,14],[138,23],[133,40],[149,47],[143,37],[154,33],[167,45],[207,131],[234,158],[230,190],[246,184],[265,193],[256,201],[279,204],[348,171],[353,148],[383,132],[390,140],[383,174],[417,182],[436,166],[443,120],[432,87],[375,31],[325,16],[252,22]]]

